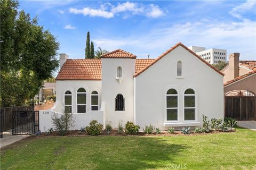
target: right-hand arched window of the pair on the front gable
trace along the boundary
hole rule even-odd
[[[187,89],[184,93],[184,120],[195,120],[196,94],[193,89]]]

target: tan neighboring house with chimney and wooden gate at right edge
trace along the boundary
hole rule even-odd
[[[255,120],[256,61],[239,61],[239,53],[229,54],[229,65],[222,72],[226,116]]]

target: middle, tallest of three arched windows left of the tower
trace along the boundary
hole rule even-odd
[[[79,88],[77,90],[77,113],[86,113],[86,90]]]

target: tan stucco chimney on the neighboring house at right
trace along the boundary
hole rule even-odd
[[[239,53],[229,54],[229,69],[231,79],[239,77]]]

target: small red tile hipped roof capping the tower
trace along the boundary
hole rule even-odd
[[[114,50],[113,52],[109,52],[106,54],[101,55],[101,58],[136,58],[132,53],[125,52],[122,49]]]

